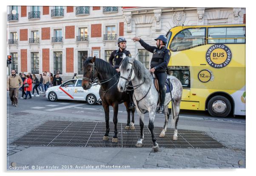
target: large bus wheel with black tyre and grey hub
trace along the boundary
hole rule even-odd
[[[207,108],[213,117],[227,117],[231,111],[231,103],[224,96],[214,96],[208,102]]]

